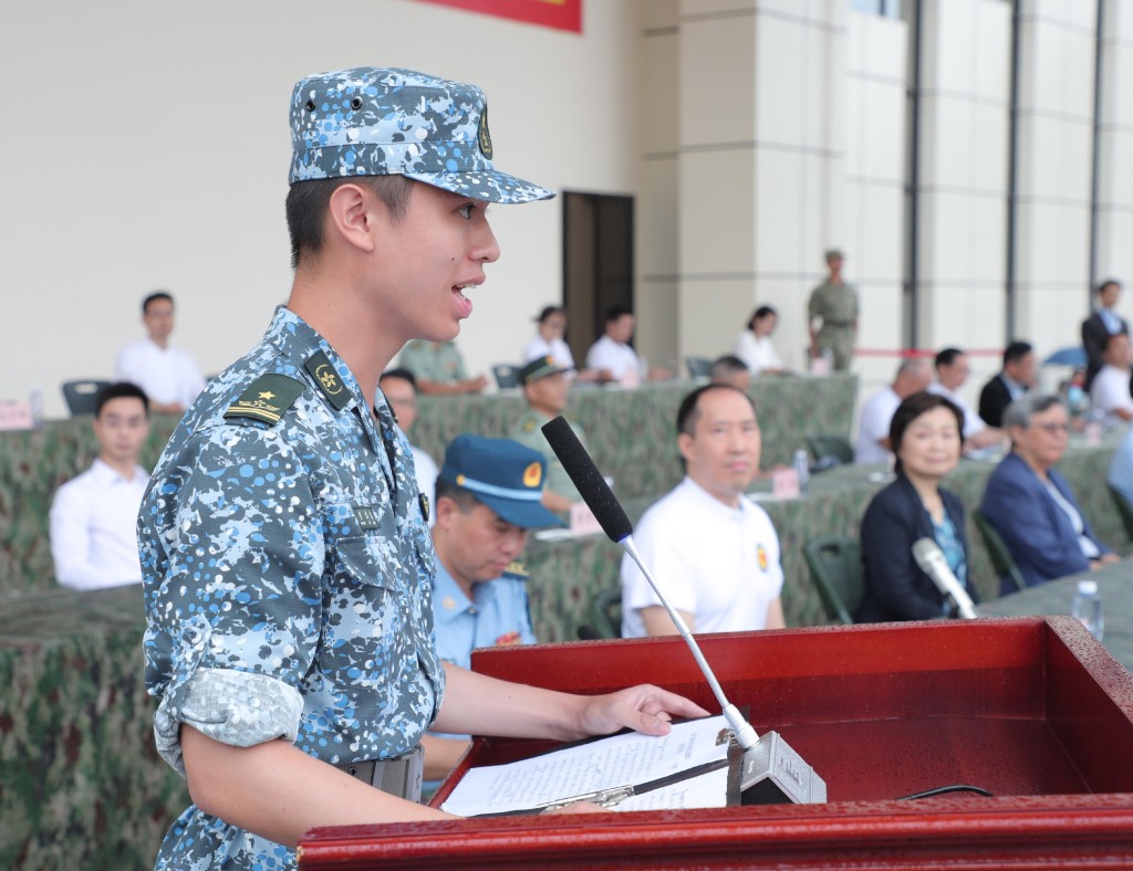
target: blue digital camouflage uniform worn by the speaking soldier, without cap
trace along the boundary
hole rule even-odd
[[[327,762],[412,748],[436,716],[435,557],[412,457],[330,345],[284,308],[173,433],[138,517],[146,687],[179,725]],[[293,868],[295,852],[190,807],[159,868]]]

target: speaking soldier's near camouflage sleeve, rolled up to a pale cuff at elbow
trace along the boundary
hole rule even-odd
[[[154,731],[184,775],[182,723],[238,747],[295,741],[324,544],[301,458],[275,431],[221,425],[180,458],[147,492],[138,541]]]

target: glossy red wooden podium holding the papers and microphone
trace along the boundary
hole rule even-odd
[[[1133,675],[1071,618],[705,636],[729,699],[778,731],[828,803],[315,829],[300,868],[1082,866],[1133,863]],[[680,639],[478,652],[576,692],[653,682],[709,710]],[[478,739],[469,765],[545,742]],[[971,784],[995,797],[900,796]]]

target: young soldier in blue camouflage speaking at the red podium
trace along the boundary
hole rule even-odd
[[[315,827],[445,818],[416,802],[429,727],[574,740],[706,713],[442,663],[427,500],[370,398],[406,342],[471,313],[500,256],[486,205],[552,192],[494,169],[479,88],[411,70],[301,80],[291,131],[290,297],[186,413],[138,517],[154,734],[194,802],[162,869],[290,869]]]

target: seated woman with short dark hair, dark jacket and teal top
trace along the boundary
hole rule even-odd
[[[960,462],[964,413],[944,396],[906,398],[889,423],[897,480],[874,497],[861,521],[866,593],[854,621],[934,620],[951,616],[952,603],[917,564],[913,544],[931,538],[973,602],[968,583],[968,541],[960,497],[940,480]]]

